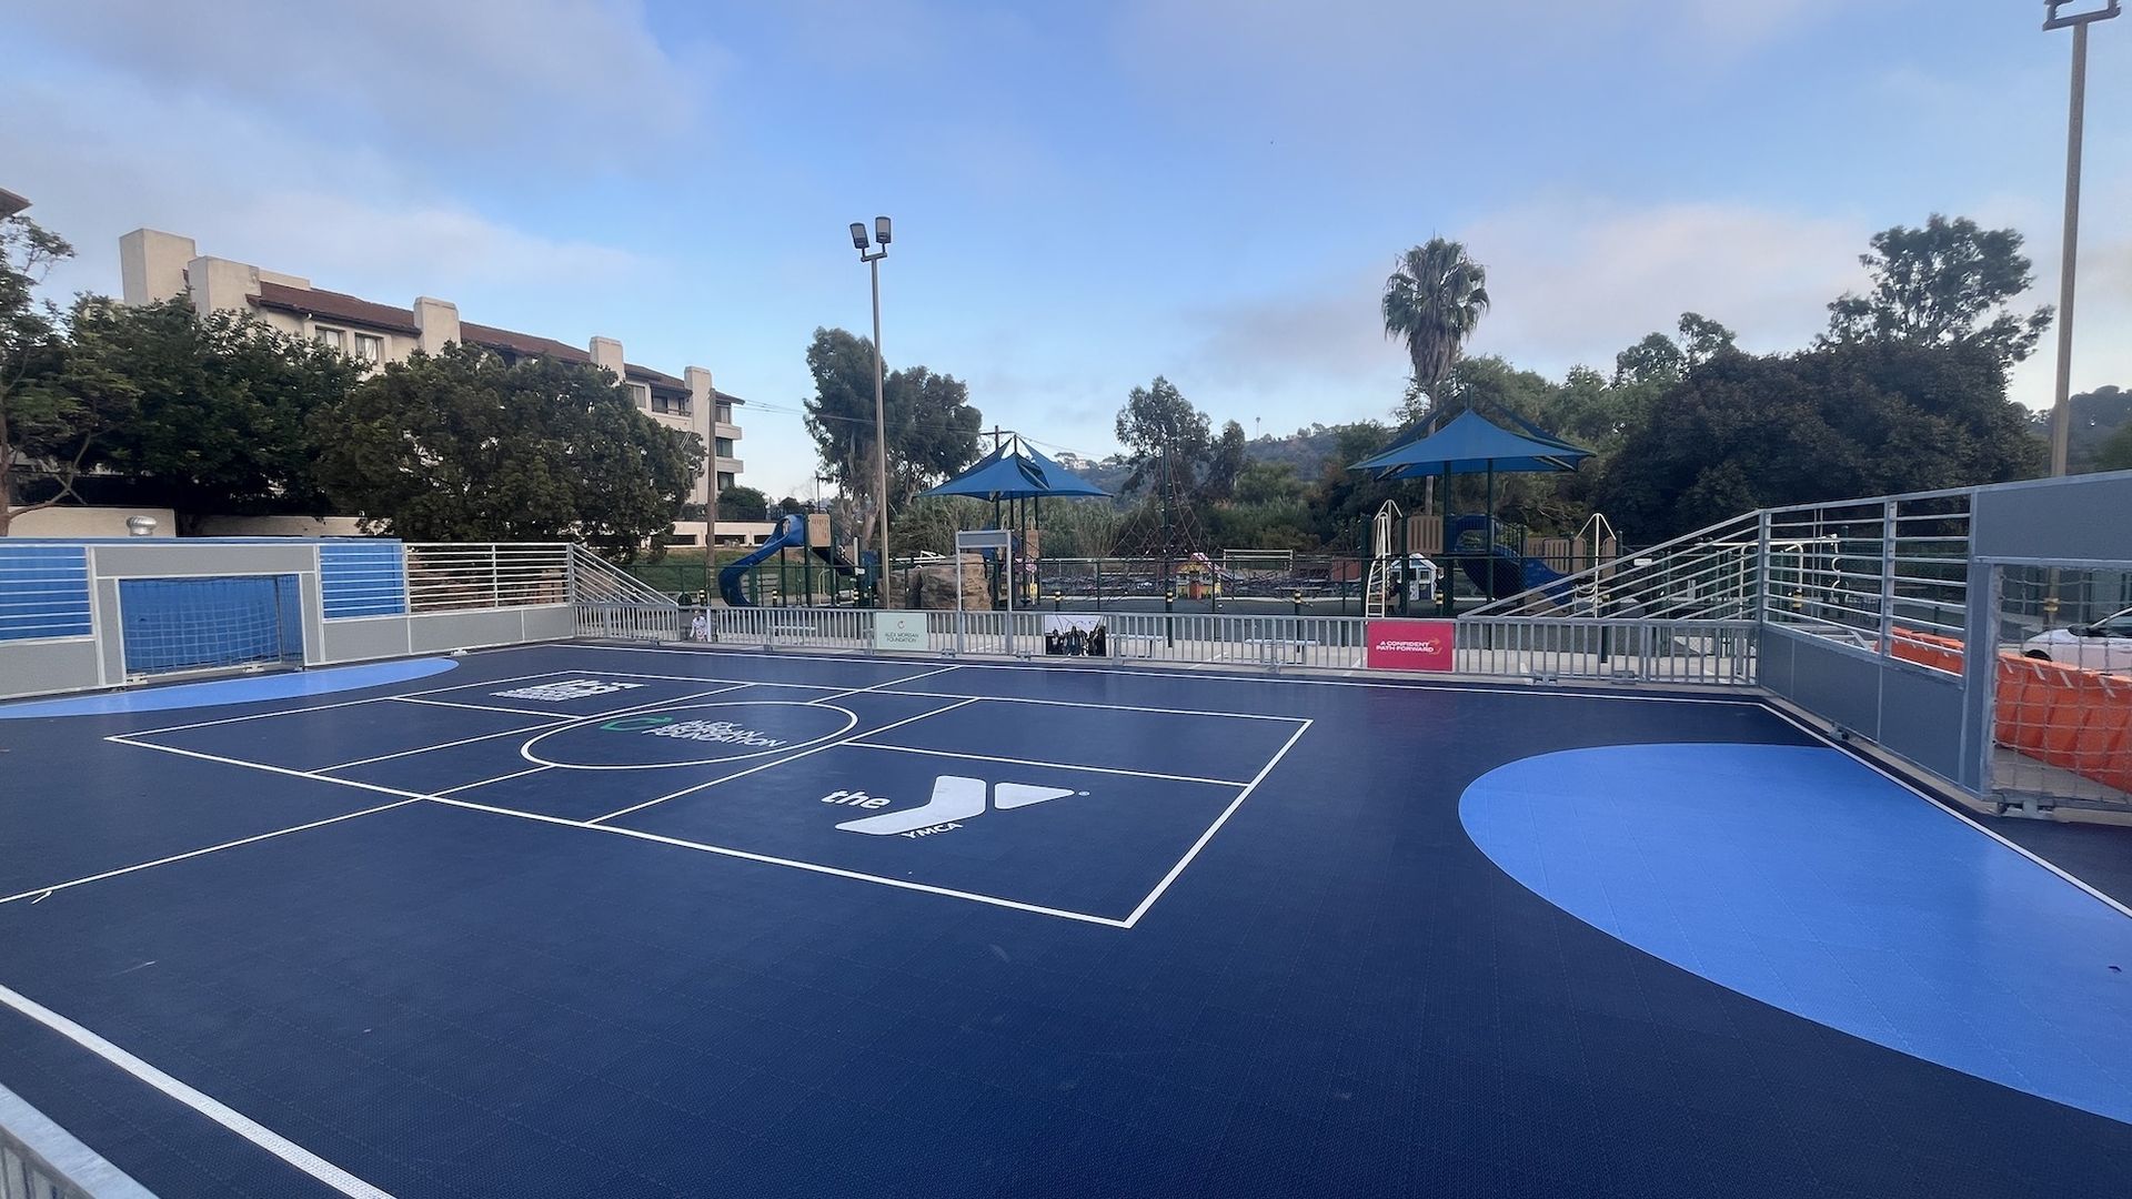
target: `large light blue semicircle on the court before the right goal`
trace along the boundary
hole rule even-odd
[[[1665,962],[2132,1122],[2132,917],[1836,749],[1569,749],[1475,779],[1458,817]]]

